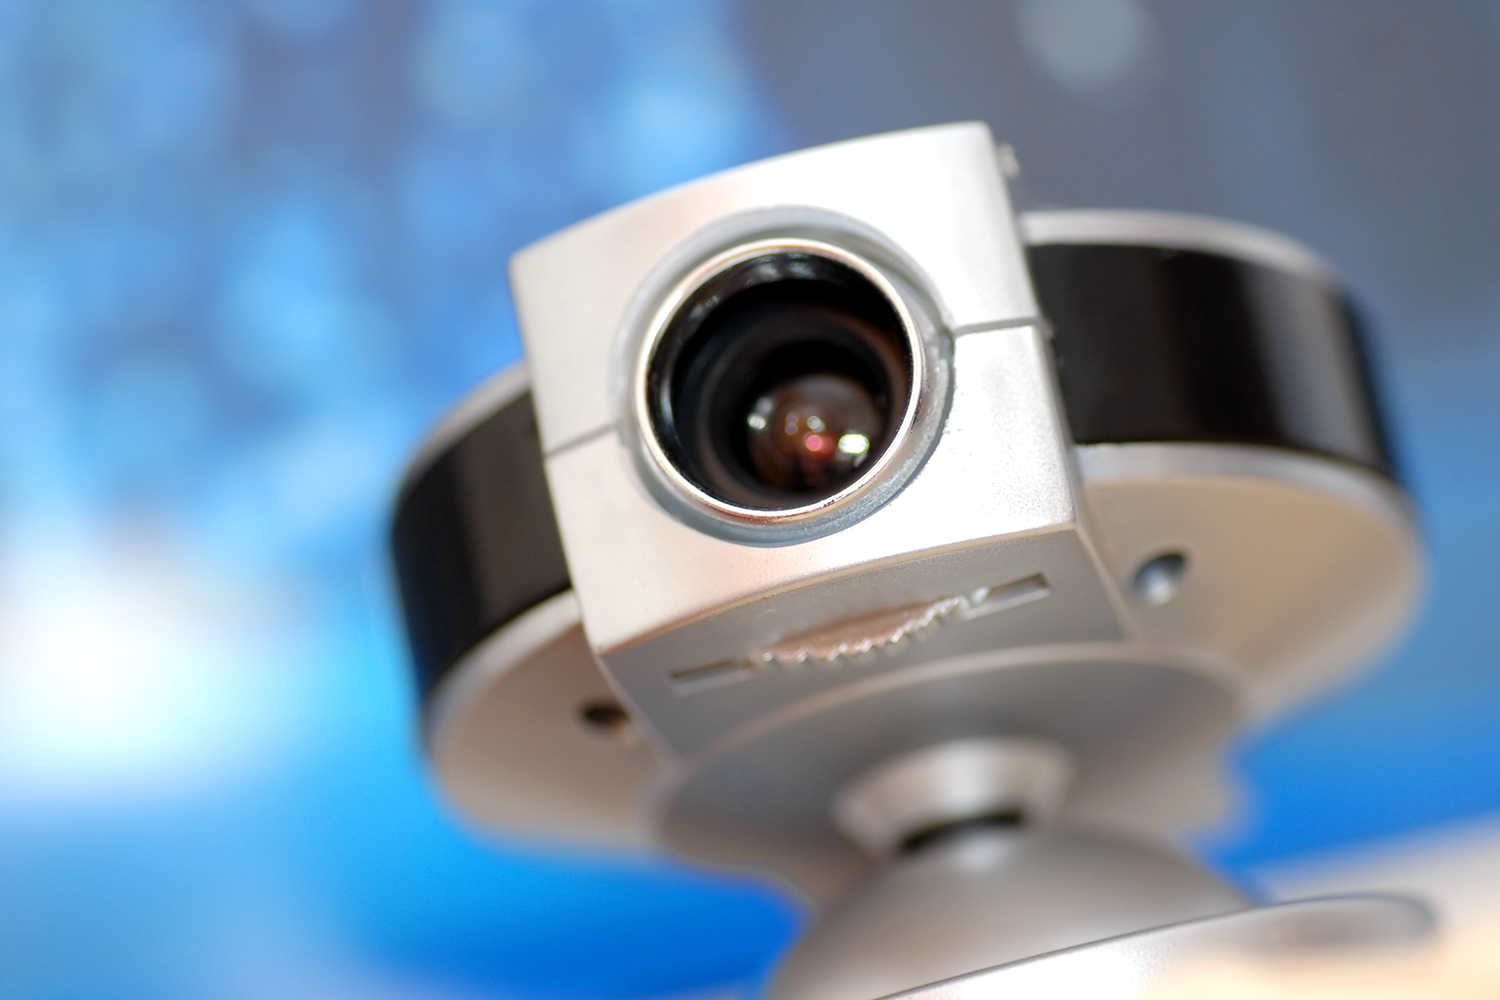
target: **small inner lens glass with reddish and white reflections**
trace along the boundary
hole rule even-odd
[[[746,417],[758,478],[792,493],[850,483],[885,433],[868,390],[843,375],[802,375],[756,399]]]

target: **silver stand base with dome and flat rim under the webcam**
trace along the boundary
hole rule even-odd
[[[1072,996],[1056,984],[1092,984],[1102,969],[1113,988],[1125,967],[1154,975],[1206,951],[1414,940],[1431,927],[1420,906],[1401,900],[1251,907],[1166,846],[1065,829],[956,829],[891,859],[832,907],[782,966],[771,1000],[1030,996],[1014,993],[1012,979],[1036,996]],[[1131,994],[1090,985],[1078,996]]]

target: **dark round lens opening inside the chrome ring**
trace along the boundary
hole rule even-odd
[[[786,249],[694,289],[648,369],[669,462],[726,504],[794,510],[868,474],[914,393],[896,306],[849,264]]]

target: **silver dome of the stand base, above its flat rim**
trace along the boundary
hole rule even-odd
[[[1246,906],[1164,847],[1082,831],[969,831],[892,861],[832,907],[788,955],[771,1000],[872,1000]]]

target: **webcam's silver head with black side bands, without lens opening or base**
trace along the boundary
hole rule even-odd
[[[396,525],[426,742],[462,813],[770,871],[820,901],[954,823],[1162,840],[1222,808],[1218,753],[1236,727],[1400,631],[1419,540],[1332,271],[1221,220],[1017,217],[1006,160],[982,124],[842,142],[516,255],[525,367],[434,433]],[[836,258],[890,298],[914,391],[896,439],[848,489],[758,510],[682,474],[645,387],[694,289],[778,247]],[[1184,285],[1173,307],[1245,298],[1226,315],[1260,337],[1270,430],[1200,435],[1184,418],[1152,436],[1149,420],[1094,420],[1064,384],[1114,369],[1059,354],[1054,333],[1071,327],[1038,304],[1054,280],[1048,247],[1119,250],[1102,273],[1178,258],[1238,268],[1228,292]],[[1068,280],[1053,306],[1092,294]],[[1120,349],[1137,348],[1152,345]],[[1150,363],[1179,378],[1172,358]],[[1220,379],[1256,375],[1214,366]],[[1215,385],[1184,399],[1212,412]],[[1096,409],[1128,390],[1104,384]],[[496,421],[510,421],[504,441]],[[518,450],[489,468],[484,435]],[[442,477],[458,486],[440,490]],[[426,498],[438,493],[448,499]],[[519,493],[531,528],[506,523]],[[444,535],[448,522],[462,531]],[[442,600],[426,567],[440,535],[477,553],[459,573],[476,592],[530,579],[554,550],[566,567],[549,562],[454,639],[428,621],[447,613],[429,607]],[[1152,913],[1202,916],[1232,897]],[[1131,919],[1120,927],[1149,925]]]

